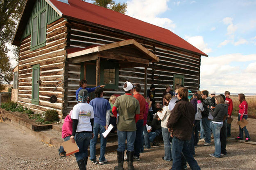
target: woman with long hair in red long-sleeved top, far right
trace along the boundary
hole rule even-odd
[[[240,102],[239,112],[238,112],[238,121],[242,120],[243,118],[245,118],[246,120],[248,118],[248,115],[247,115],[248,103],[245,100],[245,94],[238,94],[238,100]],[[239,136],[237,136],[236,140],[242,140],[244,136],[244,133],[243,133],[244,131],[245,131],[245,141],[246,142],[250,141],[248,130],[246,129],[246,127],[240,128],[240,126],[239,126]]]

